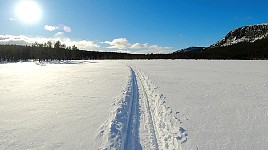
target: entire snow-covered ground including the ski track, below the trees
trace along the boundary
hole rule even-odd
[[[268,61],[0,64],[0,149],[266,149]]]

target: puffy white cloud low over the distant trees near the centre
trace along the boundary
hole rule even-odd
[[[115,51],[132,52],[132,53],[170,53],[174,51],[172,47],[162,47],[159,45],[150,45],[149,43],[134,43],[131,44],[126,38],[117,38],[112,41],[105,41],[108,44],[108,49],[115,49]]]

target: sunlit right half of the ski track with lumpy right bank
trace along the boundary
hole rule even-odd
[[[149,112],[145,115],[153,122],[150,123],[150,119],[148,119],[149,121],[145,125],[154,129],[157,140],[156,147],[150,147],[150,149],[181,149],[181,145],[188,139],[187,130],[180,127],[179,117],[175,117],[172,109],[166,106],[164,96],[156,90],[157,86],[142,71],[137,69],[136,72],[141,83],[141,91],[144,93],[145,110]],[[151,131],[153,130],[148,130],[148,132]],[[150,138],[148,137],[148,139]]]

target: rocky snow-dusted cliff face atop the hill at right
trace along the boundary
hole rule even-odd
[[[240,42],[255,42],[268,36],[268,23],[237,28],[229,32],[222,40],[211,47],[222,47]]]

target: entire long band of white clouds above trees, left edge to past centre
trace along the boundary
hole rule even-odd
[[[134,54],[171,53],[175,51],[172,47],[162,47],[159,45],[150,45],[148,43],[131,44],[126,38],[118,38],[112,41],[105,42],[94,42],[89,40],[71,40],[69,38],[64,37],[64,32],[56,33],[53,38],[27,37],[24,35],[0,35],[0,44],[32,45],[32,43],[34,42],[46,43],[47,41],[51,41],[52,43],[55,43],[58,40],[66,46],[75,45],[81,50],[111,51],[111,49],[113,49],[112,51],[114,52]],[[103,44],[108,44],[110,46],[106,47],[106,45]]]

